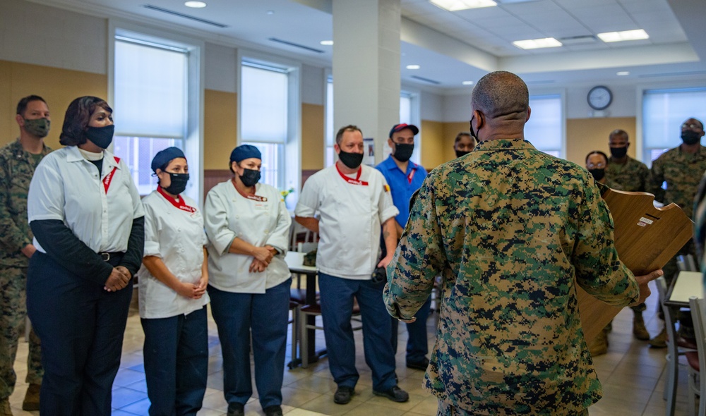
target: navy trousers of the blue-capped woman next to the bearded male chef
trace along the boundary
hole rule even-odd
[[[285,375],[289,287],[292,279],[265,293],[234,293],[208,286],[211,313],[223,352],[223,394],[228,403],[245,404],[253,395],[250,336],[255,385],[262,408],[282,404]]]

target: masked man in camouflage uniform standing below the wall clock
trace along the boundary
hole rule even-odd
[[[608,169],[606,178],[620,185],[620,190],[629,192],[645,192],[647,177],[650,176],[650,169],[641,161],[628,156],[630,139],[625,130],[613,130],[608,136],[608,145],[611,149],[611,157],[608,159]],[[633,335],[641,341],[650,339],[650,333],[645,328],[645,320],[642,319],[642,312],[647,306],[642,303],[638,306],[631,306],[633,310]]]

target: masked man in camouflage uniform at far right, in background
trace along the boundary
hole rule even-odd
[[[674,202],[689,218],[693,216],[694,197],[699,181],[706,171],[706,147],[701,145],[703,135],[704,127],[701,121],[695,118],[684,121],[681,125],[681,145],[667,150],[652,161],[652,169],[647,181],[647,192],[654,194],[654,200],[665,205]],[[665,182],[666,189],[663,189],[662,183]],[[697,264],[699,262],[693,241],[689,241],[664,266],[664,278],[668,283],[671,283],[678,273],[676,257],[680,255],[692,255],[694,261]],[[683,315],[680,321],[681,336],[694,338],[690,316]],[[659,335],[650,340],[650,345],[654,348],[665,348],[666,331],[662,329]]]

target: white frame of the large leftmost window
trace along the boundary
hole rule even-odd
[[[187,96],[186,128],[184,131],[184,153],[189,158],[189,188],[186,195],[203,206],[203,85],[205,60],[204,42],[185,37],[175,32],[136,25],[125,20],[109,19],[108,42],[108,97],[107,102],[114,106],[115,98],[115,36],[121,35],[135,39],[171,44],[189,51],[187,58]],[[116,112],[120,109],[114,108]],[[112,147],[111,147],[112,149]]]

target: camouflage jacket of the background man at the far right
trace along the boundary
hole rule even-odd
[[[694,196],[705,171],[706,147],[701,146],[695,154],[674,147],[652,161],[647,192],[654,194],[654,199],[665,205],[674,202],[691,218]],[[664,182],[666,190],[662,189]]]

